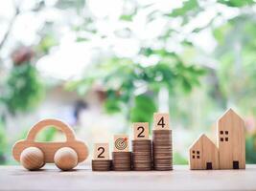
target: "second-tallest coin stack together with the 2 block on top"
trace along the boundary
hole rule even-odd
[[[132,140],[132,162],[133,170],[148,171],[151,170],[151,139],[149,139],[149,123],[133,123]]]

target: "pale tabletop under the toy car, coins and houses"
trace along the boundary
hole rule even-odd
[[[20,166],[0,166],[0,190],[256,190],[256,165],[210,171],[177,165],[169,172],[92,172],[85,165],[72,172],[46,168],[29,172]]]

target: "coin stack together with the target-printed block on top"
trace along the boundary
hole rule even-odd
[[[112,168],[115,171],[131,170],[131,152],[128,151],[128,136],[114,136],[114,152],[112,153]]]

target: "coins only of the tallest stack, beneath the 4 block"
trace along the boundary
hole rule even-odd
[[[172,130],[152,131],[154,170],[173,170]]]

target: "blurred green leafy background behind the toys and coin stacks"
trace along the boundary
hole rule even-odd
[[[170,112],[175,164],[232,107],[256,162],[254,0],[13,0],[0,7],[0,163],[36,121],[87,144]],[[54,129],[38,140],[60,140]]]

